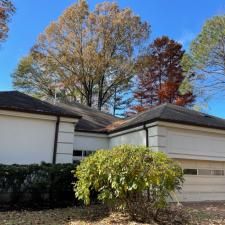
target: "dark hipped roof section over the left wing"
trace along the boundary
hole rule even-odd
[[[80,118],[80,115],[75,114],[74,112],[62,109],[18,91],[0,92],[0,109],[77,119]]]

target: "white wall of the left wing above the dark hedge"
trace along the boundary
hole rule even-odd
[[[52,163],[55,116],[0,110],[0,163]],[[60,118],[56,163],[72,163],[76,119]]]

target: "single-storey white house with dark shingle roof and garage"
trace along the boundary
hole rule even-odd
[[[72,163],[97,149],[146,145],[181,163],[182,201],[225,200],[225,120],[172,104],[120,119],[79,103],[0,92],[0,163]]]

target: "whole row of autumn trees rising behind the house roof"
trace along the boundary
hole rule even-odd
[[[190,107],[203,93],[224,91],[224,15],[205,23],[188,53],[167,36],[149,43],[150,33],[129,8],[103,2],[91,11],[78,1],[39,35],[12,74],[13,85],[114,115],[165,102]]]

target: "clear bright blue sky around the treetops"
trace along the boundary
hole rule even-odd
[[[75,0],[13,0],[17,11],[10,23],[8,40],[0,49],[0,91],[12,90],[11,73],[39,33]],[[100,0],[89,0],[91,8]],[[168,35],[188,49],[205,20],[225,13],[224,0],[117,0],[151,24],[151,39]],[[208,113],[225,118],[225,96],[209,101]]]

